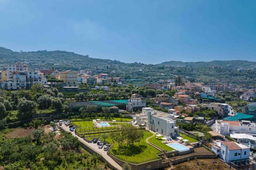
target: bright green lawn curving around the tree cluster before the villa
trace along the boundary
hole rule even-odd
[[[114,154],[114,150],[118,150],[118,144],[114,143],[113,144],[113,148],[110,150],[110,153],[112,155],[114,155],[115,157],[125,160],[129,163],[133,163],[133,164],[140,164],[140,163],[145,163],[147,161],[151,161],[151,160],[155,160],[155,159],[159,159],[159,157],[157,156],[157,154],[161,153],[161,151],[155,149],[154,147],[152,147],[151,145],[146,143],[146,139],[147,137],[153,135],[151,132],[143,132],[144,136],[143,139],[141,139],[140,141],[140,145],[138,145],[138,143],[135,143],[135,147],[138,148],[138,150],[141,150],[140,153],[137,153],[132,156],[126,156],[126,155],[115,155]],[[106,139],[107,142],[109,143],[113,143],[112,140],[110,139],[110,137],[108,137],[108,139]]]

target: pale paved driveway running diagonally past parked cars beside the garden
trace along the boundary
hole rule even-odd
[[[68,126],[62,125],[62,126],[59,126],[59,127],[62,128],[62,129],[63,129],[64,131],[66,131],[66,132],[70,132]],[[102,148],[102,149],[99,149],[99,148],[98,148],[98,145],[97,145],[96,143],[88,143],[88,142],[86,142],[82,137],[77,136],[77,135],[75,134],[75,132],[70,132],[70,133],[71,133],[73,136],[76,136],[77,139],[78,139],[81,143],[85,144],[87,147],[90,147],[93,151],[95,151],[96,153],[98,153],[99,155],[101,155],[109,164],[111,164],[113,167],[115,167],[115,169],[117,169],[117,170],[122,170],[122,169],[123,169],[120,165],[118,165],[118,164],[116,163],[115,160],[113,160],[111,157],[109,157],[109,156],[107,155],[107,151],[104,151],[103,148]]]

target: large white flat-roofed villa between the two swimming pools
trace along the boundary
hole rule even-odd
[[[136,115],[133,124],[146,126],[149,130],[164,136],[179,136],[179,127],[175,126],[174,115],[153,108],[142,108],[142,113]]]

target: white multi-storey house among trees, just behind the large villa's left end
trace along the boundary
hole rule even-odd
[[[127,111],[137,111],[143,107],[146,107],[146,101],[142,100],[139,94],[132,94],[131,99],[126,103]]]

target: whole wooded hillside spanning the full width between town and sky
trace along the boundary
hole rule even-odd
[[[215,82],[255,86],[256,62],[231,60],[209,62],[168,61],[161,64],[124,63],[116,60],[94,59],[67,51],[14,52],[0,47],[0,69],[8,63],[23,62],[32,69],[90,70],[92,74],[105,72],[110,76],[122,77],[128,82],[156,83],[181,76],[191,82]]]

